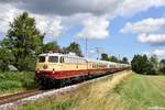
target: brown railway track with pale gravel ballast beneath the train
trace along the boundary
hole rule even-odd
[[[107,76],[94,78],[90,80],[86,80],[84,82],[75,84],[72,86],[66,86],[66,87],[58,88],[58,89],[41,90],[40,88],[37,88],[37,89],[32,89],[32,90],[28,90],[28,91],[23,91],[23,92],[19,92],[19,94],[2,96],[2,97],[0,97],[0,110],[7,110],[7,108],[11,108],[10,106],[18,105],[19,100],[29,102],[31,100],[35,101],[37,99],[42,99],[45,97],[52,97],[54,95],[65,94],[65,92],[76,89],[79,86],[82,86],[84,84],[89,84],[95,80],[100,80],[100,79],[103,79],[103,78],[110,77],[110,76],[118,76],[120,74],[122,74],[122,72],[120,72],[118,74],[110,74]]]

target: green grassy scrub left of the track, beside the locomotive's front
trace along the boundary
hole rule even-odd
[[[33,72],[0,73],[0,95],[35,88]]]

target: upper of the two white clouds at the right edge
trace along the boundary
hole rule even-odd
[[[144,19],[139,22],[128,22],[122,30],[120,30],[121,33],[153,33],[161,31],[162,28],[165,26],[165,19]]]

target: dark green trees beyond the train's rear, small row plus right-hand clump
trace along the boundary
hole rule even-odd
[[[138,74],[144,74],[144,75],[165,74],[165,59],[161,59],[158,62],[158,58],[156,55],[152,55],[151,57],[146,55],[134,55],[131,63],[129,63],[127,57],[119,59],[118,57],[113,55],[109,56],[108,54],[102,53],[101,61],[130,64],[132,70]]]

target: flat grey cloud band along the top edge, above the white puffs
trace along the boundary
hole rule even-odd
[[[164,0],[1,0],[40,14],[73,15],[77,13],[132,15],[152,7],[165,6]],[[38,4],[40,3],[40,4]]]

